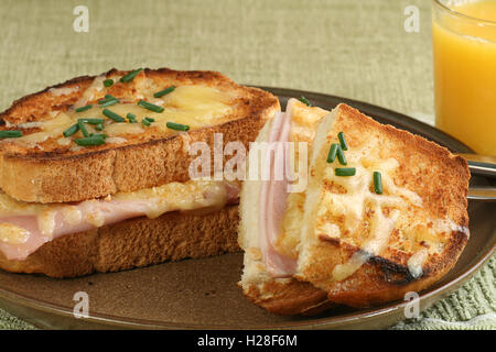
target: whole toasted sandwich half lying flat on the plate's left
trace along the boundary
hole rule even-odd
[[[74,277],[237,251],[240,185],[192,179],[191,146],[213,154],[218,133],[248,147],[279,109],[218,73],[168,68],[15,101],[0,114],[0,267]]]

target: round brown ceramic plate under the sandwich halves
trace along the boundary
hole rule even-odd
[[[379,122],[421,134],[453,152],[471,152],[439,130],[379,107],[321,94],[265,89],[277,95],[282,107],[289,97],[301,96],[327,110],[344,101]],[[484,185],[487,180],[474,177],[472,183]],[[441,282],[421,293],[421,309],[454,292],[494,253],[496,204],[471,201],[468,212],[471,239],[465,251]],[[37,327],[65,329],[371,329],[405,319],[405,301],[367,310],[339,308],[316,317],[268,314],[246,300],[238,288],[241,263],[239,253],[74,279],[0,271],[0,306]],[[74,318],[76,292],[88,294],[89,318]]]

